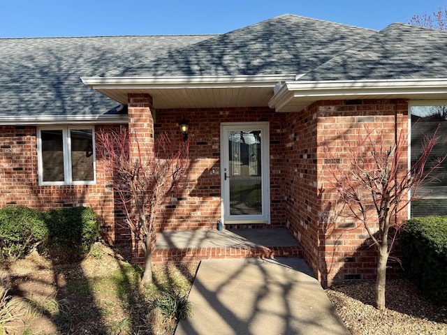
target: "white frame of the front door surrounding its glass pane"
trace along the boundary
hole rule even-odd
[[[229,170],[228,137],[229,130],[261,130],[263,134],[261,140],[261,190],[262,209],[261,215],[230,215],[229,199],[230,184],[225,180],[225,169]],[[250,223],[264,223],[270,225],[270,127],[268,121],[265,122],[223,122],[221,123],[221,221],[227,225],[240,225]],[[227,215],[228,212],[228,215]]]

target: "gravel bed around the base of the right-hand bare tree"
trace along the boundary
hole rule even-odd
[[[353,282],[326,293],[352,335],[446,334],[447,306],[437,306],[409,281],[386,284],[386,311],[374,308],[374,282]]]

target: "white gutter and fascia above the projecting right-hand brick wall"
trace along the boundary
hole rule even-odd
[[[411,94],[447,94],[447,78],[285,82],[270,99],[269,106],[279,110],[293,99],[303,99],[312,103],[318,100],[347,99],[357,96],[408,97]]]

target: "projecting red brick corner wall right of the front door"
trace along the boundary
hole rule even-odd
[[[376,251],[362,225],[337,216],[337,193],[326,168],[324,147],[343,163],[348,141],[362,125],[379,127],[393,142],[395,126],[407,129],[405,101],[318,102],[288,115],[286,147],[291,148],[285,175],[287,223],[302,244],[309,265],[325,285],[375,278]],[[395,122],[397,120],[397,123]],[[402,167],[406,167],[404,154]],[[406,218],[402,212],[400,218]],[[376,218],[371,216],[371,220]]]

